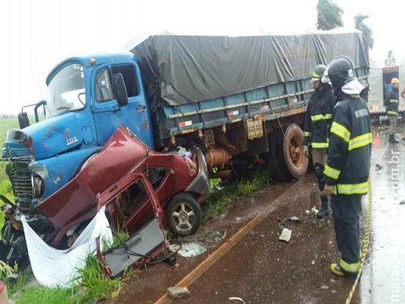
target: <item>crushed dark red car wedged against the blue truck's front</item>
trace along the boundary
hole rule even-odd
[[[27,222],[35,223],[34,217],[38,218],[36,222],[46,222],[30,225],[48,244],[65,249],[74,243],[98,208],[106,206],[110,225],[124,227],[132,235],[124,247],[135,246],[130,251],[142,251],[133,255],[129,263],[140,263],[167,245],[162,225],[176,235],[186,236],[194,234],[201,223],[199,202],[209,194],[206,160],[198,147],[183,154],[177,150],[153,151],[121,125],[75,177],[36,206]],[[149,245],[137,247],[136,238],[149,238]],[[119,248],[115,249],[102,260],[114,263],[113,255]],[[109,274],[119,272],[115,268]]]

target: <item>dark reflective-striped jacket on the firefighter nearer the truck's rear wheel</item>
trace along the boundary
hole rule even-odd
[[[335,94],[328,84],[322,91],[316,90],[308,102],[305,114],[304,144],[312,148],[328,147],[328,132],[331,127]]]

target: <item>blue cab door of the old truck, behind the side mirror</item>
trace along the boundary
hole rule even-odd
[[[112,74],[121,73],[128,94],[128,104],[118,106],[110,84],[108,66],[92,73],[92,110],[99,144],[104,144],[115,129],[124,124],[149,147],[154,148],[148,107],[135,63],[111,65]]]

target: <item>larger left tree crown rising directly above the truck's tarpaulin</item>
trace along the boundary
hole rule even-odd
[[[318,0],[316,10],[318,11],[317,29],[329,30],[343,26],[343,10],[331,0]]]

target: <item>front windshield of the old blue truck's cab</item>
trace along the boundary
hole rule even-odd
[[[83,65],[72,63],[62,68],[51,80],[48,89],[47,118],[84,108],[86,95]]]

